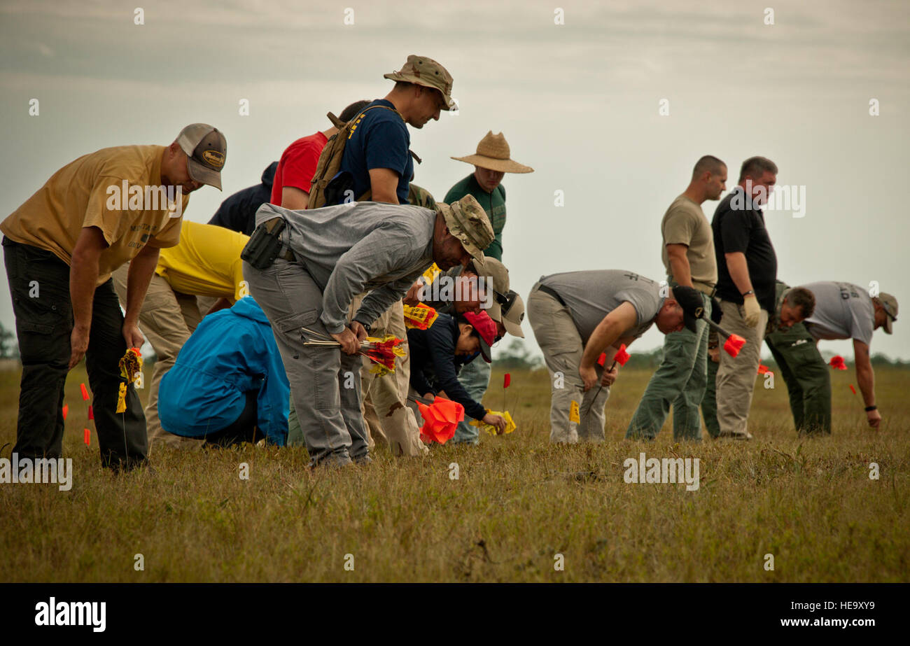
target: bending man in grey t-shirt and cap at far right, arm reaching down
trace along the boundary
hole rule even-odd
[[[897,320],[897,299],[885,292],[872,297],[857,285],[831,280],[801,287],[815,297],[814,313],[804,321],[815,342],[830,338],[853,339],[856,383],[863,392],[869,426],[877,429],[882,416],[875,406],[875,373],[869,346],[876,329],[885,328],[885,333],[891,334],[891,325]]]

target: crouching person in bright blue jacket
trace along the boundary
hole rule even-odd
[[[168,433],[208,443],[288,438],[290,385],[262,308],[251,297],[202,319],[161,379],[158,417]]]

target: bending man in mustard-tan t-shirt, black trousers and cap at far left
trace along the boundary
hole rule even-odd
[[[206,124],[170,146],[116,146],[81,156],[0,223],[22,356],[13,452],[63,449],[66,373],[86,357],[101,462],[131,469],[147,456],[146,419],[133,386],[116,413],[119,361],[143,343],[136,327],[158,249],[177,245],[188,193],[221,188],[227,142]],[[132,260],[126,317],[111,273]]]

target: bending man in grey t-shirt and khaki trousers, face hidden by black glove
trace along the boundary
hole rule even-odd
[[[693,288],[671,290],[620,269],[541,277],[528,297],[528,318],[550,370],[550,441],[602,441],[617,349],[654,324],[664,334],[695,328],[701,305]],[[602,368],[597,361],[604,351]],[[593,388],[598,380],[602,388]]]

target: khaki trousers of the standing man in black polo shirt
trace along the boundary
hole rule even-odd
[[[717,422],[722,435],[744,436],[748,431],[749,409],[768,313],[761,310],[758,325],[750,328],[743,320],[742,305],[721,300],[721,311],[723,328],[743,337],[746,342],[735,358],[723,350],[722,344],[721,363],[717,368]]]

